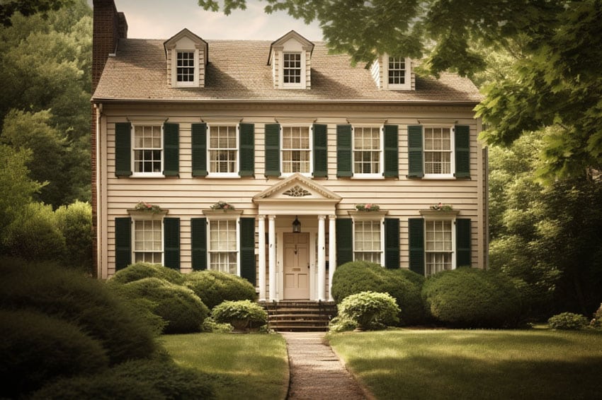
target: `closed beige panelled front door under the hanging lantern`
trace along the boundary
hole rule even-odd
[[[284,234],[284,298],[309,299],[309,233]]]

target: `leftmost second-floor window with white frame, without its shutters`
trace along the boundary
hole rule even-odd
[[[161,125],[135,125],[133,136],[134,174],[162,176],[163,127]]]

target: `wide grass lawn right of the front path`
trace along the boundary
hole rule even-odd
[[[377,399],[600,399],[600,331],[329,334]]]

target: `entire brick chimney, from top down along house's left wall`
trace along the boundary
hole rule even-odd
[[[124,13],[118,13],[113,0],[93,0],[92,31],[92,94],[105,67],[109,54],[117,51],[120,38],[127,38],[127,21]],[[98,110],[92,106],[91,164],[92,164],[92,276],[98,274],[98,185],[96,182],[96,117]]]

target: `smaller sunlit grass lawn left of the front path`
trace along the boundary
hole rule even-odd
[[[176,363],[210,376],[218,399],[284,399],[288,356],[275,334],[165,335]]]

